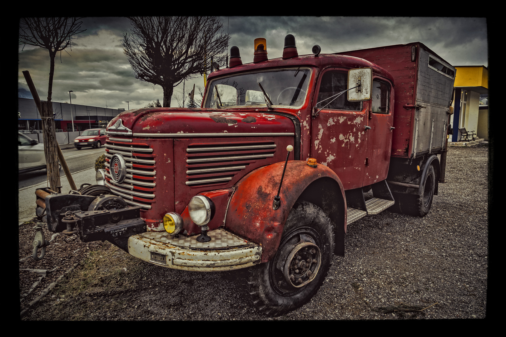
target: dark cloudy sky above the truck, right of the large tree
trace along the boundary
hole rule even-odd
[[[281,56],[286,34],[296,38],[299,55],[336,53],[383,45],[422,42],[453,65],[486,65],[485,18],[438,17],[222,17],[244,63],[253,58],[257,37],[267,39],[269,58]],[[230,50],[230,47],[229,47]]]

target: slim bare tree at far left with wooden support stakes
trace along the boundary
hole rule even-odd
[[[53,115],[53,104],[51,103],[53,95],[53,77],[55,73],[55,57],[58,52],[70,47],[73,35],[78,34],[83,29],[81,27],[80,18],[21,18],[19,23],[19,44],[29,44],[42,47],[49,51],[49,84],[48,84],[48,100],[40,102],[37,91],[28,71],[23,74],[27,79],[28,86],[32,92],[33,99],[37,102],[37,108],[40,112],[42,121],[42,129],[44,135],[44,155],[46,157],[46,165],[48,168],[48,179],[51,189],[56,190],[60,186],[60,170],[58,168],[58,160],[63,166],[67,175],[70,186],[75,189],[74,181],[65,163],[63,154],[56,141],[55,121]],[[38,103],[40,102],[40,103]]]

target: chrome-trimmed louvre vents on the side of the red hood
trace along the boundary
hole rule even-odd
[[[274,157],[274,141],[191,143],[186,149],[186,184],[226,183],[258,160]]]

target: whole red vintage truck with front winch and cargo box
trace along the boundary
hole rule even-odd
[[[281,58],[256,39],[253,63],[234,46],[217,68],[199,109],[115,117],[96,185],[37,190],[49,230],[163,267],[242,269],[253,302],[281,314],[317,292],[347,225],[429,212],[455,69],[424,44],[299,56],[287,35]]]

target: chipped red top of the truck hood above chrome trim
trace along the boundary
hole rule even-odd
[[[132,130],[135,136],[294,131],[290,118],[262,110],[184,108],[129,110],[112,119],[107,130],[121,132],[121,125]]]

